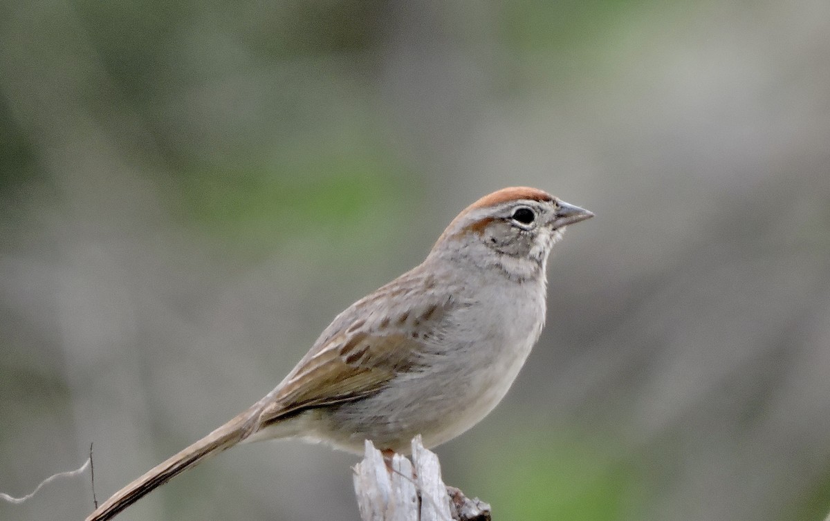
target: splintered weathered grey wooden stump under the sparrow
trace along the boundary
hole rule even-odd
[[[363,521],[491,521],[490,505],[468,499],[441,479],[438,456],[412,441],[413,460],[395,454],[390,464],[366,441],[354,467],[354,493]]]

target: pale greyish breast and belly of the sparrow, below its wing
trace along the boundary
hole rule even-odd
[[[437,446],[476,425],[510,389],[544,324],[544,286],[489,285],[452,313],[428,359],[373,396],[320,411],[318,437],[360,452],[365,439],[408,451],[416,434]],[[507,305],[504,305],[504,304]]]

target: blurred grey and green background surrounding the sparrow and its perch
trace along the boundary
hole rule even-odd
[[[500,187],[597,217],[437,450],[496,519],[830,510],[830,2],[2,2],[0,491],[99,500],[276,385]],[[357,520],[238,447],[120,519]],[[0,519],[81,519],[87,477]]]

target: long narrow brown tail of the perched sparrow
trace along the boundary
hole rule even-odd
[[[114,518],[121,510],[134,504],[146,494],[152,492],[153,489],[173,478],[173,476],[198,465],[212,455],[219,454],[222,450],[237,445],[256,430],[259,420],[259,407],[257,405],[242,412],[242,414],[193,443],[193,445],[188,446],[188,448],[170,456],[164,462],[154,466],[144,475],[120,489],[110,499],[107,499],[105,504],[95,509],[95,512],[86,518],[86,521],[105,521],[105,519]]]

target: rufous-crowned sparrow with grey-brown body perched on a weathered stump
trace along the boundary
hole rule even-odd
[[[551,246],[593,213],[530,187],[481,197],[427,259],[359,299],[259,402],[116,492],[111,519],[174,475],[242,441],[302,437],[407,453],[476,425],[505,396],[544,325]]]

